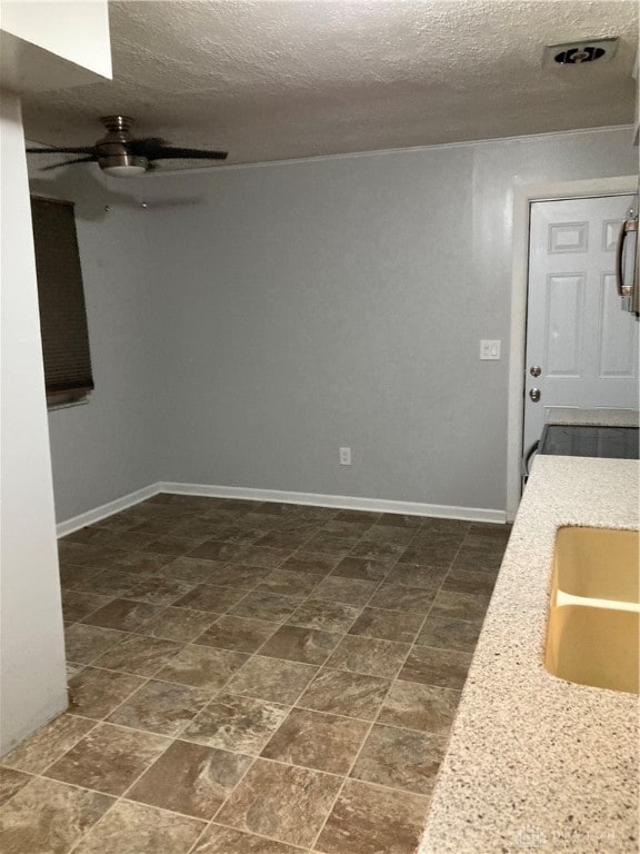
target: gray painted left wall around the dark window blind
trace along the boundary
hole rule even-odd
[[[33,177],[31,191],[76,202],[96,389],[89,403],[50,410],[58,522],[158,479],[160,459],[150,326],[148,212],[93,171]],[[124,187],[140,191],[138,187]],[[104,206],[110,206],[110,211]]]

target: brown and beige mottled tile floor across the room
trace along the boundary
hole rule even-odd
[[[60,543],[3,854],[412,854],[509,529],[159,495]]]

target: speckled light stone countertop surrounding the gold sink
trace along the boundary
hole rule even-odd
[[[536,458],[420,854],[638,852],[638,697],[542,664],[557,528],[637,528],[638,487],[637,460]]]

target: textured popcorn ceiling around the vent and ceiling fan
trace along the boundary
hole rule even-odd
[[[114,79],[24,99],[28,137],[92,143],[98,117],[257,162],[631,122],[636,0],[110,3]],[[543,68],[548,43],[617,57]]]

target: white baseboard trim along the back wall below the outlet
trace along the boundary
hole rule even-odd
[[[156,493],[178,493],[210,498],[239,498],[252,502],[282,502],[313,507],[336,507],[343,510],[369,510],[371,513],[399,513],[407,516],[436,516],[442,519],[468,519],[469,522],[492,522],[504,524],[504,510],[489,510],[482,507],[454,507],[446,504],[420,504],[418,502],[391,502],[384,498],[360,498],[349,495],[323,495],[320,493],[289,493],[281,489],[251,489],[243,486],[208,486],[204,484],[174,484],[160,481]]]

